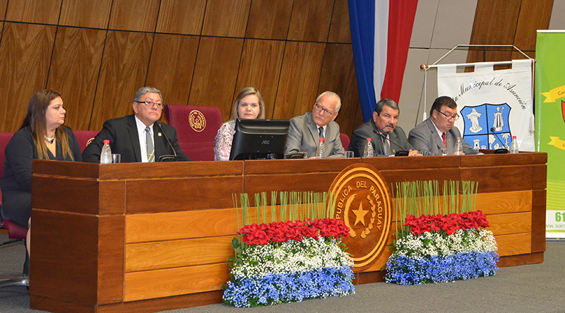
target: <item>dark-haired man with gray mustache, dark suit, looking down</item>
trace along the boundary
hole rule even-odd
[[[363,156],[367,138],[371,138],[374,154],[376,156],[394,155],[398,150],[407,150],[408,155],[421,155],[414,150],[406,134],[398,123],[400,108],[391,99],[381,99],[376,102],[373,119],[365,122],[353,132],[348,150],[353,151],[356,157]]]

